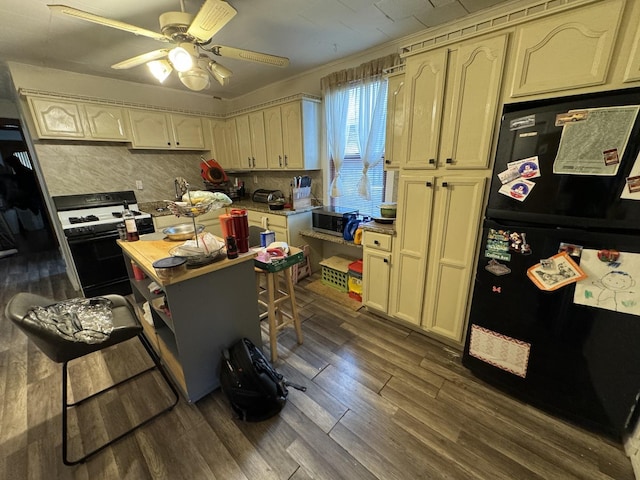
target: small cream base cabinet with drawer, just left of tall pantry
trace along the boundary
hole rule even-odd
[[[362,233],[362,303],[382,313],[389,310],[391,234]]]

